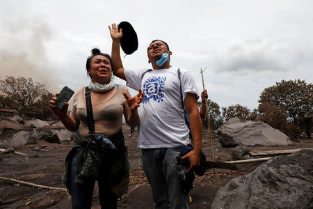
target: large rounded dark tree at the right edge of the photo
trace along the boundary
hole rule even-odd
[[[298,125],[313,109],[313,85],[300,79],[276,82],[262,91],[259,105],[265,103],[283,109],[287,119]]]

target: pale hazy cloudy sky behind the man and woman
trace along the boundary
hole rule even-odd
[[[204,85],[220,107],[252,110],[282,79],[313,83],[313,1],[1,0],[0,17],[0,79],[31,77],[52,93],[88,85],[90,50],[111,54],[108,26],[122,21],[139,42],[134,54],[121,51],[125,67],[151,68],[147,45],[165,40],[171,64],[190,70],[200,92],[207,68]]]

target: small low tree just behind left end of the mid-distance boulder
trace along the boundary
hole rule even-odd
[[[222,118],[224,121],[228,121],[230,118],[247,119],[248,116],[250,116],[250,110],[246,106],[236,104],[227,108],[222,107]]]

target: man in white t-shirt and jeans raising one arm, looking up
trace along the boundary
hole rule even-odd
[[[166,42],[154,40],[147,49],[153,70],[124,68],[120,59],[122,30],[116,24],[109,26],[112,42],[114,75],[127,81],[127,86],[144,93],[138,109],[138,148],[142,149],[143,170],[152,187],[154,208],[188,208],[189,194],[182,192],[177,175],[180,148],[189,143],[188,127],[184,121],[181,88],[193,135],[193,150],[184,155],[191,162],[191,171],[200,165],[202,151],[202,124],[198,109],[198,91],[191,73],[170,65],[170,49]],[[163,54],[166,53],[166,54]],[[162,56],[162,58],[161,58]]]

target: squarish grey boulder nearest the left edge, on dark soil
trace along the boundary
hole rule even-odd
[[[20,131],[14,134],[12,139],[10,139],[10,145],[13,146],[13,148],[17,148],[26,144],[36,144],[36,138],[37,133],[35,131]]]

